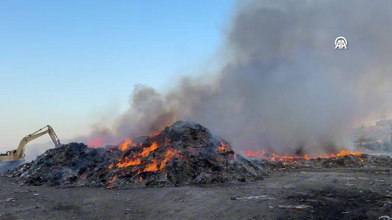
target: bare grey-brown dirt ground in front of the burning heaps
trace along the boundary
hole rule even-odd
[[[282,170],[256,182],[136,189],[19,186],[0,175],[0,219],[373,220],[392,217],[391,174],[380,167]],[[269,198],[234,199],[259,195]]]

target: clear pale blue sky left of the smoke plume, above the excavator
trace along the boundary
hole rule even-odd
[[[134,84],[164,91],[195,74],[220,46],[234,4],[0,1],[0,152],[47,124],[60,139],[86,134],[126,109]]]

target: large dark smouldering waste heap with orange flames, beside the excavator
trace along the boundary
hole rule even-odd
[[[264,171],[207,128],[178,121],[119,146],[70,143],[50,149],[10,173],[32,185],[113,188],[245,182],[262,179]]]

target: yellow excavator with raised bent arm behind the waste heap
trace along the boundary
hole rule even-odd
[[[45,131],[41,131],[44,128],[47,128]],[[39,133],[38,133],[39,132]],[[60,147],[62,144],[60,143],[60,140],[57,138],[56,133],[54,133],[54,130],[51,126],[44,126],[43,128],[37,130],[36,132],[26,135],[24,137],[18,146],[18,149],[12,150],[12,151],[7,151],[5,154],[0,154],[0,161],[23,161],[24,160],[24,148],[29,141],[33,141],[36,138],[41,137],[44,134],[49,134],[52,138],[52,141],[54,142],[55,147]]]

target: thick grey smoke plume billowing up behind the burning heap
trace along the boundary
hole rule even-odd
[[[392,1],[241,2],[218,73],[167,94],[136,85],[114,128],[93,136],[118,143],[190,120],[237,150],[316,155],[347,147],[358,120],[391,110]],[[335,50],[338,36],[348,50]]]

